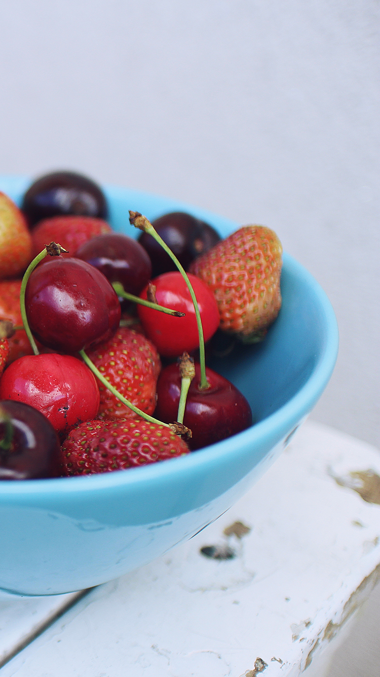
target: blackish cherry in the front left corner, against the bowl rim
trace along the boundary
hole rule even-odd
[[[59,475],[60,442],[43,414],[22,402],[0,401],[0,479]]]

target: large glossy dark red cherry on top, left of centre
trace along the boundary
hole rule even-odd
[[[120,322],[114,288],[92,265],[54,257],[32,271],[25,293],[30,330],[63,353],[108,341]]]

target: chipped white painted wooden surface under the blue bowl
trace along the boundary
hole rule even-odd
[[[367,498],[380,501],[379,475],[374,447],[306,422],[218,521],[82,597],[0,677],[297,677],[305,669],[327,677],[323,650],[380,577],[380,505],[355,490],[364,482]],[[246,533],[227,535],[237,522]],[[209,559],[203,546],[236,556]],[[13,604],[1,613],[3,647],[7,617],[19,613],[24,634],[32,624],[33,603]],[[10,633],[8,650],[19,641]]]

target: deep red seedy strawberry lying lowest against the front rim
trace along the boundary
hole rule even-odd
[[[168,427],[143,418],[81,423],[62,445],[65,475],[91,475],[189,454],[189,447]]]

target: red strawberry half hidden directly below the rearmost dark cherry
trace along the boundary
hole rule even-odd
[[[37,256],[45,244],[59,242],[68,250],[68,254],[62,256],[74,256],[76,250],[87,240],[111,231],[112,228],[107,221],[89,216],[56,216],[52,219],[43,219],[32,230],[33,253]]]

